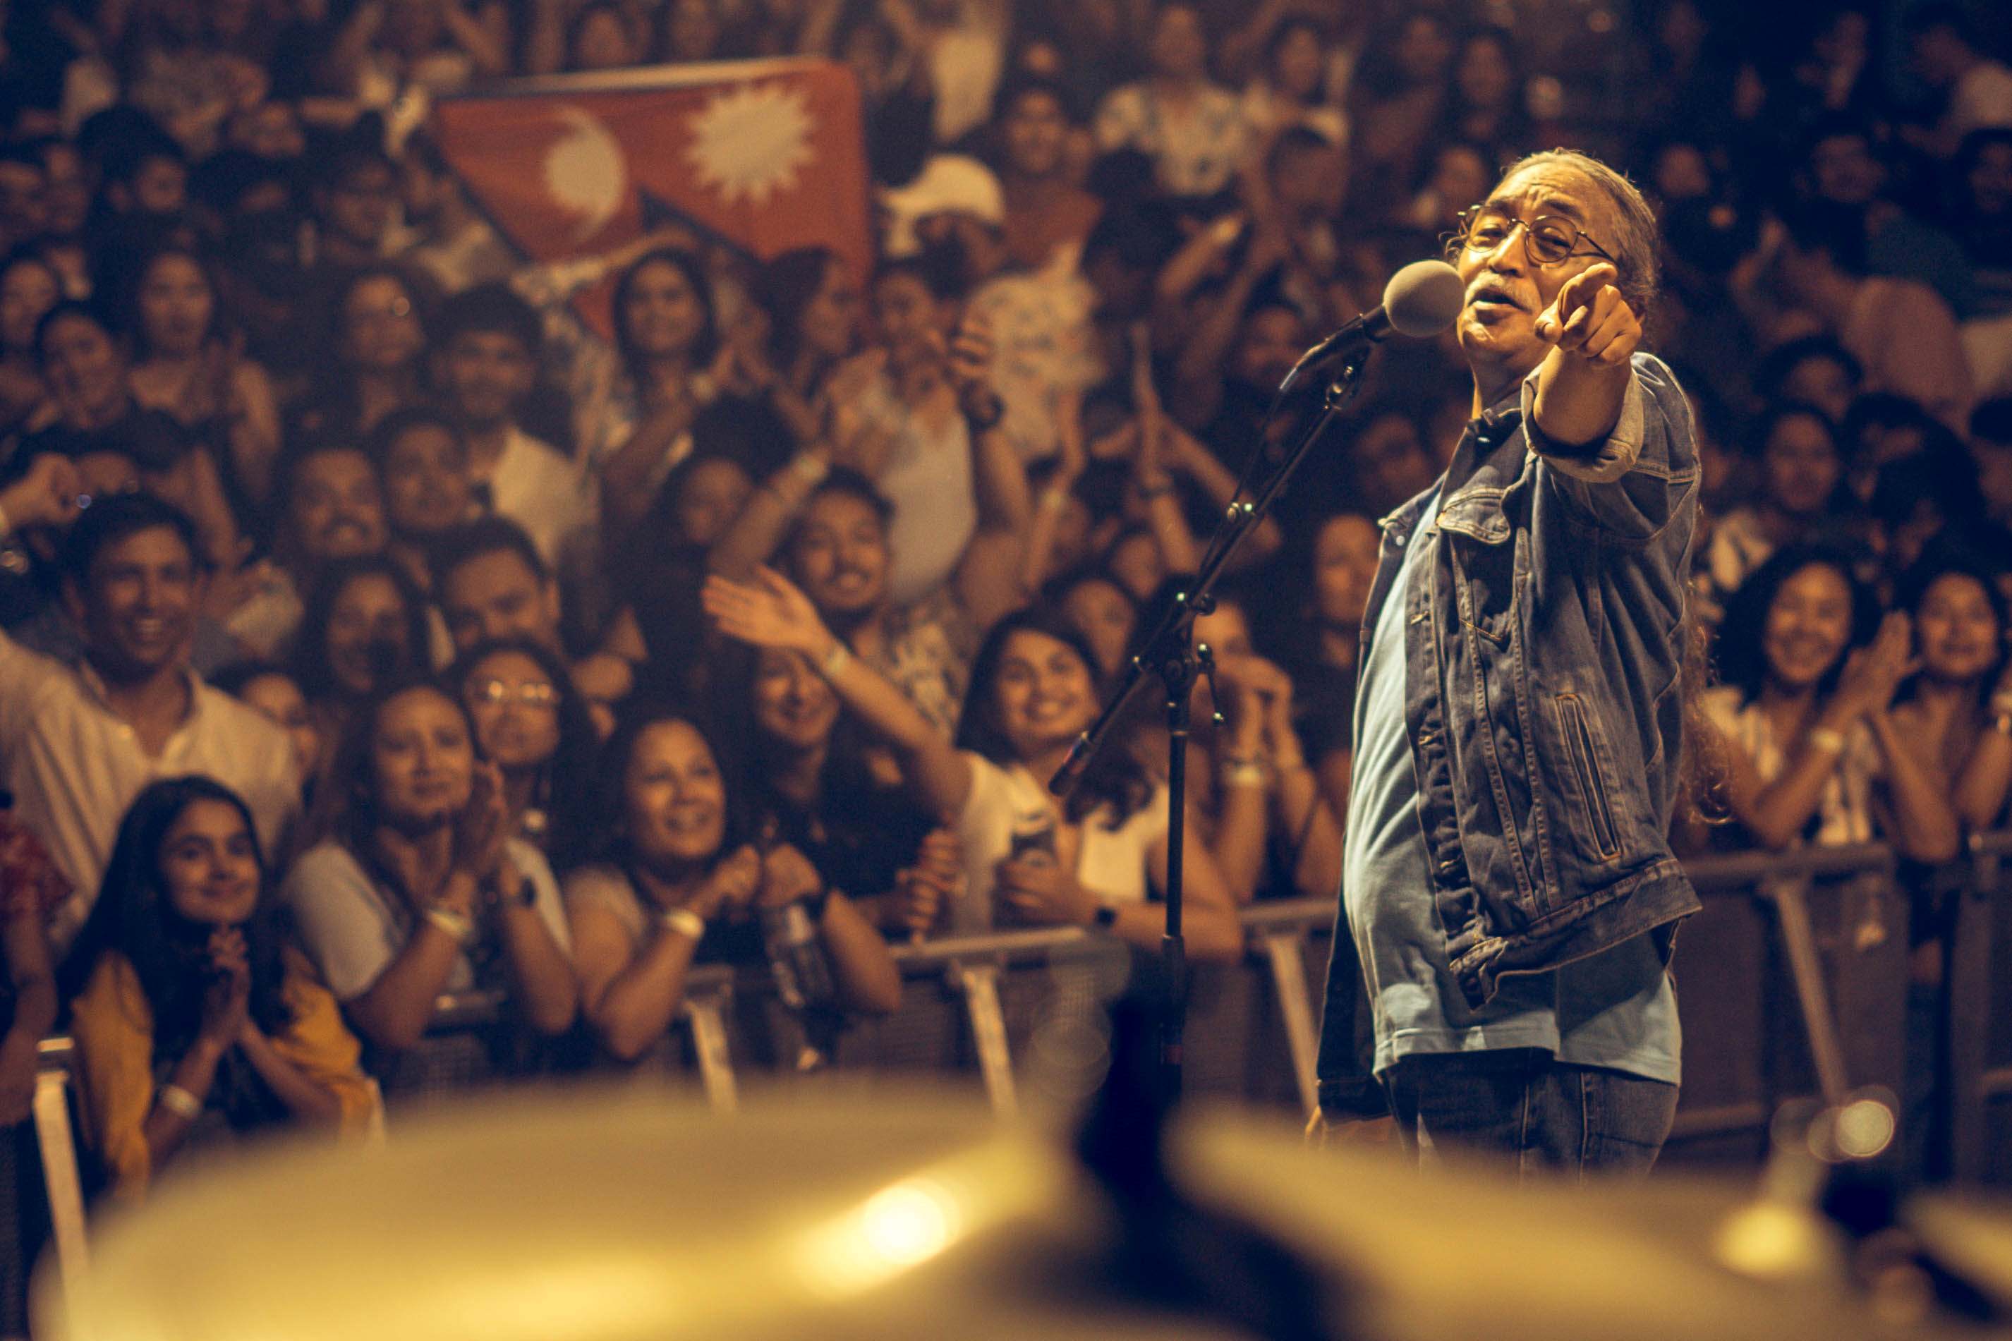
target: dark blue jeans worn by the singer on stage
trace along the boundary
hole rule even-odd
[[[1676,1118],[1676,1086],[1569,1066],[1541,1047],[1414,1053],[1384,1072],[1382,1084],[1398,1138],[1420,1166],[1455,1152],[1517,1176],[1640,1178]]]

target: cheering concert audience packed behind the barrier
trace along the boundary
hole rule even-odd
[[[517,1058],[644,1058],[783,909],[841,1017],[913,937],[1153,947],[1157,714],[1044,782],[1304,422],[1284,374],[1553,143],[1662,219],[1686,850],[2006,818],[2012,70],[1956,6],[4,12],[0,1120],[64,1019],[129,1196],[199,1128],[370,1130],[443,993],[499,989]],[[429,129],[775,54],[859,82],[865,273],[676,223],[531,263]],[[1471,400],[1451,336],[1384,348],[1197,619],[1195,957],[1334,895],[1376,519]]]

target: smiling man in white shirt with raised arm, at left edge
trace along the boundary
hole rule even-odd
[[[0,535],[36,525],[68,527],[62,597],[85,659],[64,665],[0,633],[0,778],[74,887],[50,923],[62,949],[149,782],[223,782],[276,852],[300,808],[300,772],[282,728],[189,669],[207,571],[187,515],[151,495],[99,499],[78,515],[74,466],[42,456],[0,493]]]

